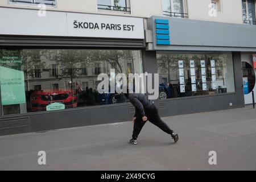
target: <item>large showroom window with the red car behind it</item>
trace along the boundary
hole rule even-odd
[[[142,73],[141,51],[88,49],[0,50],[3,114],[126,102],[97,92],[100,73]]]

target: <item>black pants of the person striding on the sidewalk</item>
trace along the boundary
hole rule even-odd
[[[146,114],[148,121],[153,123],[155,126],[158,126],[161,130],[163,130],[167,134],[171,134],[172,132],[174,132],[159,117],[158,109],[156,108],[156,106],[154,104],[152,104],[149,108],[144,109],[144,110],[145,110],[145,114]],[[142,117],[136,117],[136,119],[134,121],[134,126],[133,126],[133,139],[138,138],[138,135],[141,132],[141,129],[145,123],[146,122],[142,120]]]

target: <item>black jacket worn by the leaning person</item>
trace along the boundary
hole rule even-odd
[[[141,93],[129,93],[127,94],[127,97],[135,107],[134,117],[145,116],[144,109],[147,109],[154,103],[152,100],[148,100],[147,96]]]

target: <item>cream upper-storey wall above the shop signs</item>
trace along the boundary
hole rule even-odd
[[[242,0],[219,0],[221,11],[216,17],[210,17],[209,4],[211,0],[187,0],[189,19],[209,20],[227,23],[242,23]],[[26,7],[38,9],[37,6],[10,5],[8,0],[0,0],[0,6]],[[131,14],[123,14],[114,11],[97,10],[97,0],[57,0],[56,7],[47,7],[50,10],[75,11],[99,14],[122,14],[127,16],[150,17],[151,15],[162,16],[162,0],[130,0]]]

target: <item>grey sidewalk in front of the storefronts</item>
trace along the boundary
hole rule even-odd
[[[256,110],[214,111],[164,117],[179,134],[150,122],[138,144],[128,143],[132,122],[0,137],[1,170],[256,170]],[[38,151],[46,151],[39,166]],[[217,164],[209,165],[209,151]]]

